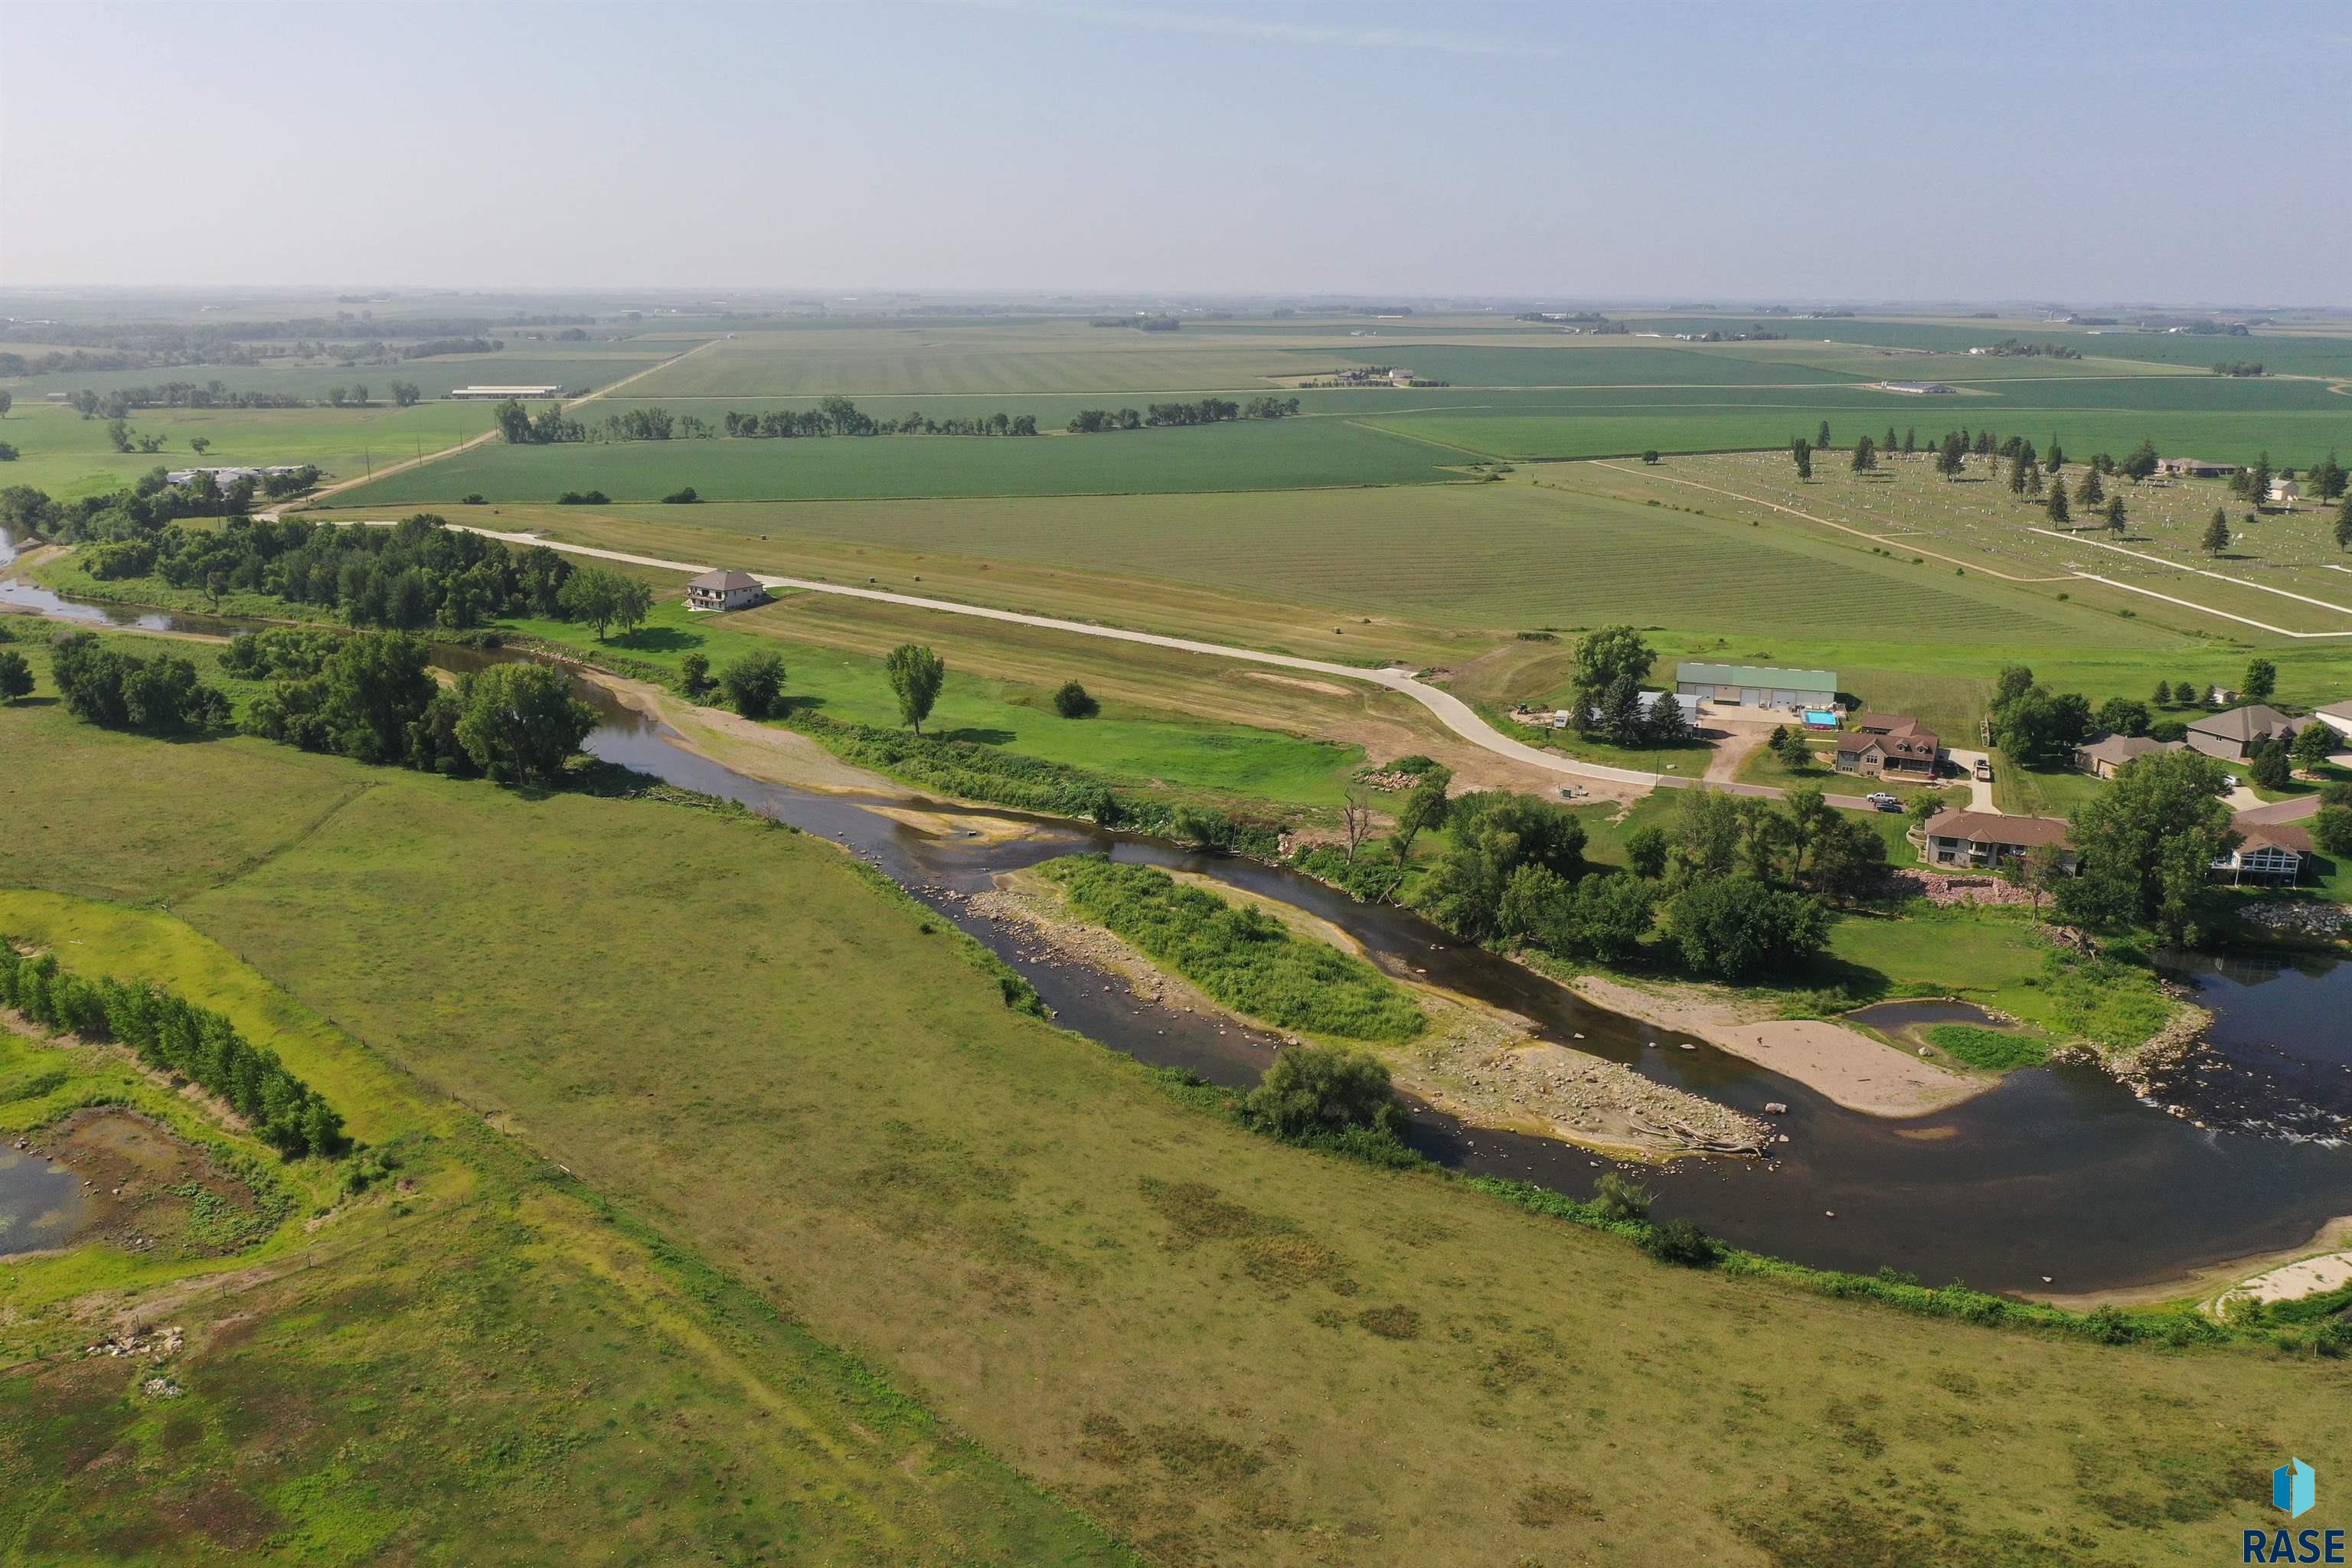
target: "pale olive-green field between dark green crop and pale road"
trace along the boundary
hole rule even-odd
[[[383,508],[365,515],[383,515]],[[447,515],[470,522],[480,512]],[[727,564],[783,562],[776,571],[795,571],[779,541],[809,538],[1065,574],[1162,578],[1329,611],[1331,625],[1345,632],[1338,646],[1355,637],[1350,618],[1364,616],[1503,635],[1632,621],[1708,637],[1933,637],[1992,646],[2176,642],[2169,632],[2103,616],[2086,604],[2025,595],[1976,574],[1931,571],[1910,564],[1910,557],[1879,557],[1820,529],[1748,527],[1719,515],[1705,496],[1677,510],[1526,482],[1261,496],[543,508],[520,515],[499,508],[485,522],[515,527],[522,517],[560,529],[586,529],[593,517],[626,520],[635,529],[635,548],[649,555],[666,555],[661,538],[673,520],[701,531],[699,538],[727,529],[743,536]],[[1691,571],[1693,562],[1703,562],[1705,571]],[[1388,651],[1388,644],[1376,644],[1367,656]]]

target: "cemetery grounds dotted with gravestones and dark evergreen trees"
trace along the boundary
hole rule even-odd
[[[1750,451],[1675,458],[1656,470],[1618,463],[1548,477],[1625,496],[1679,494],[1731,515],[1790,508],[1823,524],[1839,524],[1825,531],[1851,529],[1846,538],[1969,562],[2023,578],[2037,592],[2082,597],[2089,583],[2070,581],[2067,574],[2086,571],[2288,632],[2352,632],[2352,555],[2336,545],[2333,517],[2319,503],[2246,522],[2246,503],[2232,498],[2220,480],[2117,480],[2110,494],[2122,494],[2126,505],[2126,531],[2117,538],[2091,517],[2051,524],[2039,503],[2020,501],[2009,491],[2006,477],[1973,463],[1957,482],[1936,477],[1924,456],[1886,463],[1872,477],[1851,473],[1830,454],[1813,463],[1813,480],[1804,482],[1788,456]],[[2070,465],[2060,475],[2070,491],[2082,473]],[[2216,508],[2227,512],[2234,538],[2218,557],[2209,557],[2199,538]],[[1788,512],[1776,515],[1802,527]],[[2263,637],[2260,628],[2244,621],[2206,616],[2147,592],[2126,592],[2122,602],[2143,618],[2185,630]]]

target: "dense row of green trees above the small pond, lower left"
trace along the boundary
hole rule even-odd
[[[238,1034],[221,1013],[186,997],[113,978],[85,980],[54,952],[26,957],[0,936],[0,1004],[82,1039],[120,1039],[139,1060],[219,1095],[261,1143],[287,1159],[350,1147],[343,1117],[294,1077],[275,1051]]]

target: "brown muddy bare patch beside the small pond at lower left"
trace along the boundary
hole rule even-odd
[[[278,1227],[278,1206],[219,1168],[167,1126],[120,1107],[78,1110],[26,1140],[82,1180],[82,1213],[66,1246],[106,1241],[127,1253],[226,1258]]]

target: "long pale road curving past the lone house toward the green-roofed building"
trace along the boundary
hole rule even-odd
[[[369,517],[348,520],[348,527],[376,527],[388,529],[393,520]],[[689,576],[701,576],[713,571],[703,562],[673,562],[659,555],[630,555],[626,550],[602,550],[595,545],[567,545],[553,538],[541,538],[536,534],[513,534],[503,529],[475,529],[468,524],[452,522],[452,529],[466,534],[480,534],[482,538],[499,538],[515,545],[546,545],[550,550],[562,550],[564,555],[586,555],[604,562],[621,562],[623,567],[654,567],[656,571],[684,571]],[[1129,632],[1115,625],[1087,625],[1084,621],[1056,621],[1054,616],[1030,616],[1016,609],[990,609],[988,604],[957,604],[955,599],[924,599],[910,592],[889,592],[882,588],[849,588],[847,583],[818,583],[811,578],[771,576],[762,571],[746,574],[762,588],[795,588],[800,592],[830,592],[849,599],[873,599],[877,604],[903,604],[908,609],[929,609],[946,616],[978,616],[983,621],[1011,621],[1014,625],[1035,625],[1049,632],[1073,632],[1077,637],[1108,637],[1112,642],[1141,642],[1155,649],[1176,649],[1181,654],[1209,654],[1211,658],[1240,658],[1254,665],[1275,665],[1282,670],[1308,670],[1312,675],[1334,675],[1338,679],[1371,682],[1374,686],[1388,686],[1390,691],[1404,693],[1437,715],[1437,722],[1451,729],[1463,741],[1479,745],[1496,757],[1510,757],[1512,762],[1524,762],[1550,773],[1562,773],[1566,778],[1595,778],[1616,785],[1635,785],[1642,790],[1656,788],[1691,788],[1696,780],[1677,778],[1672,773],[1644,773],[1639,769],[1611,769],[1599,762],[1576,762],[1562,757],[1559,752],[1548,752],[1524,741],[1512,741],[1494,724],[1482,719],[1470,703],[1461,701],[1451,691],[1439,691],[1428,682],[1416,679],[1406,670],[1364,670],[1357,665],[1334,665],[1319,658],[1298,658],[1294,654],[1261,654],[1258,649],[1235,649],[1223,642],[1195,642],[1190,637],[1164,637],[1160,632]],[[1726,795],[1762,795],[1766,799],[1778,799],[1783,792],[1769,785],[1740,785],[1726,783],[1715,785]],[[1853,795],[1830,795],[1832,806],[1844,806],[1849,811],[1872,811],[1872,804]]]

